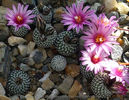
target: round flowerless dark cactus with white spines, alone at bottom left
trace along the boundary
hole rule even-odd
[[[10,73],[6,85],[10,95],[24,94],[28,91],[29,87],[30,78],[25,72],[14,70]]]

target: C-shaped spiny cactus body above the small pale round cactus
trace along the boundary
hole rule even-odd
[[[70,56],[77,51],[78,43],[66,43],[64,41],[65,36],[67,36],[71,40],[77,35],[76,33],[73,33],[71,31],[64,31],[57,36],[55,46],[61,55]]]

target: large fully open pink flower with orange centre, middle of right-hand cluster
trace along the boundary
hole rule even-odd
[[[116,42],[117,37],[111,35],[114,32],[113,29],[104,25],[96,27],[94,24],[89,28],[87,32],[84,32],[86,36],[82,36],[82,39],[85,40],[84,47],[90,46],[97,53],[101,53],[104,50],[110,55],[112,44],[118,44]]]

